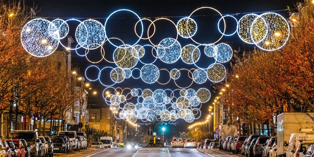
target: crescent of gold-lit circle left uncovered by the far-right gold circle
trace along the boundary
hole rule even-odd
[[[247,14],[238,21],[238,36],[248,44],[254,44],[251,38],[251,26],[257,17],[257,14]]]

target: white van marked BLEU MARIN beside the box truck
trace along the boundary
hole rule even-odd
[[[314,130],[312,128],[301,128],[299,132],[290,134],[286,157],[293,157],[300,142],[314,143]]]

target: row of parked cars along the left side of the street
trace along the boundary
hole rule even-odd
[[[83,135],[83,136],[81,136]],[[37,130],[14,130],[0,140],[0,157],[53,157],[54,152],[87,149],[84,133],[61,131],[58,136],[38,136]]]

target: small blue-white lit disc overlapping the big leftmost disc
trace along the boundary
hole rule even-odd
[[[62,19],[55,19],[49,24],[49,34],[55,39],[62,39],[69,33],[69,25]]]

